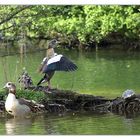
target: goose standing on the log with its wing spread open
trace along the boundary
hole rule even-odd
[[[71,60],[54,52],[56,44],[57,41],[55,39],[49,43],[47,57],[43,59],[40,68],[40,72],[45,73],[45,75],[37,84],[39,86],[42,83],[48,82],[48,89],[51,88],[50,80],[55,71],[75,71],[77,69],[77,66]]]

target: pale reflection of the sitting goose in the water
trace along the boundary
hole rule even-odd
[[[5,129],[8,135],[25,135],[30,127],[32,127],[31,119],[11,118],[5,122]]]

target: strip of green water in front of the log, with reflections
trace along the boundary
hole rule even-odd
[[[113,114],[42,115],[25,120],[4,119],[1,135],[136,135],[140,117],[124,118]]]

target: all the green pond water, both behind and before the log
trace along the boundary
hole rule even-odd
[[[52,86],[80,93],[109,98],[121,96],[126,89],[140,93],[140,52],[98,51],[77,52],[56,50],[78,65],[76,72],[56,72]],[[37,72],[46,50],[25,55],[2,57],[0,52],[0,86],[6,81],[18,85],[25,67],[36,84],[43,76]],[[140,116],[119,116],[112,113],[43,114],[25,120],[0,117],[0,134],[79,135],[79,134],[140,134]]]

